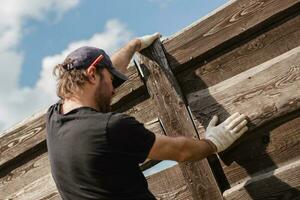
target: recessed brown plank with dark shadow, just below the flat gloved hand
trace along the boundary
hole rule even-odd
[[[255,174],[300,159],[300,112],[272,120],[243,137],[229,152],[219,154],[231,187]]]

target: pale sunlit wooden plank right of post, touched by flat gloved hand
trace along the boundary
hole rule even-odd
[[[197,128],[213,114],[221,121],[239,111],[250,129],[300,108],[300,47],[208,89],[187,95]]]

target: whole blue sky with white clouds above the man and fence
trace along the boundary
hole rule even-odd
[[[52,68],[72,49],[109,53],[129,39],[170,36],[225,0],[0,0],[0,132],[56,100]]]

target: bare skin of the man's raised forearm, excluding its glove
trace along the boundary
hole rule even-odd
[[[140,50],[140,48],[141,41],[139,39],[131,40],[111,56],[113,65],[122,73],[126,73],[130,60],[132,59],[134,53]]]

